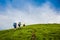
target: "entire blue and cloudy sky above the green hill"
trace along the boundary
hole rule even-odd
[[[0,30],[14,22],[60,23],[60,0],[0,0]]]

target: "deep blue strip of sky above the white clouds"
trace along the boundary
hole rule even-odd
[[[53,6],[56,9],[60,9],[60,0],[0,0],[0,6],[2,7],[1,10],[5,10],[9,4],[11,4],[13,8],[23,9],[27,4],[40,7],[47,1],[51,3],[51,7]]]

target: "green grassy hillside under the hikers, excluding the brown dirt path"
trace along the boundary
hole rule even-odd
[[[36,40],[60,40],[60,24],[35,24],[0,31],[0,40],[31,40],[33,31]]]

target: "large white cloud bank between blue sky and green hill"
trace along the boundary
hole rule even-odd
[[[7,14],[0,15],[0,28],[12,28],[15,21],[21,21],[25,24],[60,23],[60,15],[57,15],[57,12],[50,8],[49,2],[41,7],[27,5],[25,9],[25,11],[14,9],[10,5],[6,9]]]

